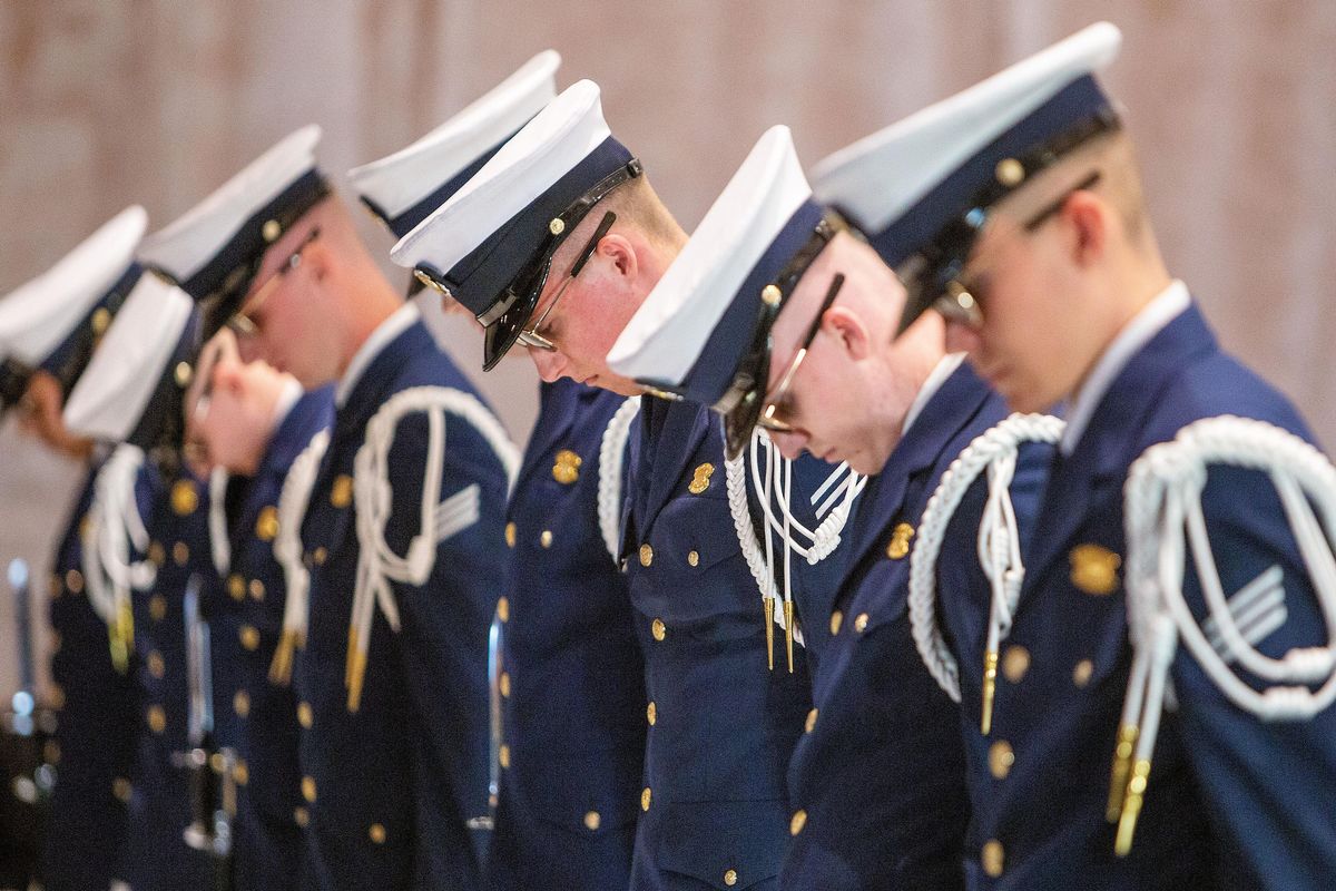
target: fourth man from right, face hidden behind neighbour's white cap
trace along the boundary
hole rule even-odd
[[[391,232],[406,235],[556,96],[560,61],[550,49],[538,53],[428,136],[353,170],[353,187]],[[424,299],[458,309],[436,291]],[[625,450],[613,443],[625,402],[569,379],[544,382],[510,497],[505,541],[514,578],[498,604],[498,801],[486,862],[496,891],[629,882],[644,663],[625,576],[604,541],[604,526],[620,522],[620,501],[612,496],[616,509],[600,514],[608,493],[621,489]]]

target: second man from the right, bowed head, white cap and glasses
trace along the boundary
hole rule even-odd
[[[879,473],[848,570],[799,601],[820,659],[790,767],[780,886],[794,890],[963,887],[959,711],[915,652],[907,557],[939,477],[1005,409],[946,354],[937,314],[895,338],[904,291],[878,250],[814,198],[788,128],[775,127],[608,357],[620,374],[713,406],[735,441],[760,426],[786,454],[806,448]],[[986,582],[967,581],[959,596],[986,601]]]

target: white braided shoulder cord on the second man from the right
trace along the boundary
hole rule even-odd
[[[910,557],[910,629],[914,644],[938,685],[961,701],[961,675],[955,656],[937,624],[937,558],[946,528],[961,500],[985,470],[989,497],[979,517],[978,557],[993,589],[989,633],[983,652],[983,708],[979,728],[993,729],[993,697],[997,689],[998,649],[1011,631],[1025,581],[1021,562],[1021,534],[1011,506],[1010,485],[1017,454],[1023,442],[1055,443],[1065,423],[1046,414],[1013,414],[974,438],[942,474],[937,492],[919,518],[914,553]]]

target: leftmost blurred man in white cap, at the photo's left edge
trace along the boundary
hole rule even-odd
[[[147,215],[130,207],[48,271],[0,298],[0,401],[19,406],[20,425],[57,454],[86,465],[80,494],[56,546],[48,618],[49,704],[56,785],[45,826],[41,882],[52,891],[103,887],[122,875],[126,803],[138,740],[138,693],[127,665],[114,664],[112,616],[86,592],[86,514],[102,454],[61,418],[65,397],[94,349],[139,283],[135,247]]]

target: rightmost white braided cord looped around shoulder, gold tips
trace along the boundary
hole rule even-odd
[[[1271,476],[1327,622],[1325,647],[1293,648],[1271,659],[1240,631],[1201,506],[1212,464]],[[1264,721],[1309,720],[1336,700],[1336,558],[1324,532],[1336,530],[1336,468],[1325,456],[1263,421],[1206,418],[1180,430],[1172,442],[1146,449],[1132,465],[1124,494],[1128,632],[1134,652],[1106,814],[1118,824],[1118,855],[1132,850],[1161,712],[1172,699],[1169,668],[1180,640],[1230,703]],[[1189,549],[1224,655],[1212,647],[1184,598]],[[1275,685],[1253,689],[1229,668],[1230,661]]]

